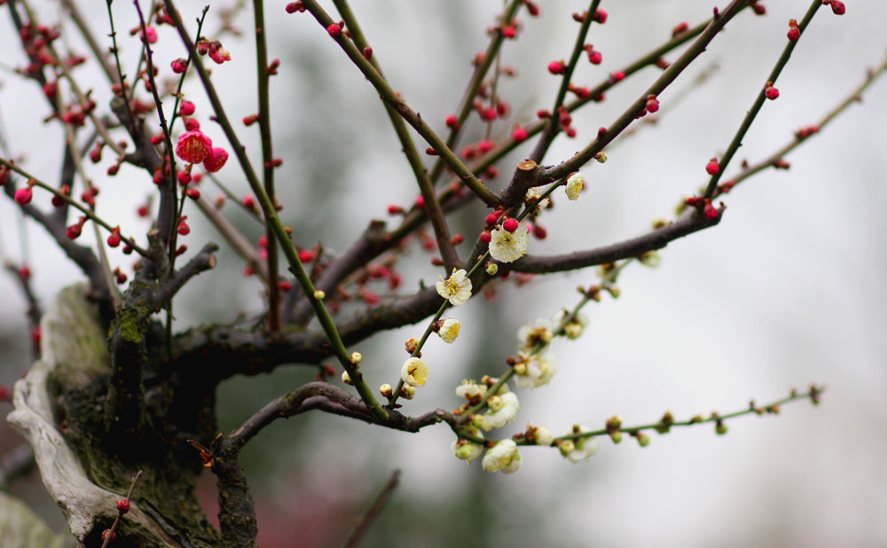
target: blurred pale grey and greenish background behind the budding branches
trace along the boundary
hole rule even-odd
[[[640,235],[654,219],[671,218],[682,197],[706,181],[705,163],[723,153],[784,46],[787,21],[800,20],[808,3],[763,4],[765,17],[743,12],[659,97],[660,123],[643,125],[608,151],[607,164],[585,169],[587,192],[577,202],[557,200],[543,217],[548,238],[534,239],[530,253],[563,253]],[[883,60],[887,4],[847,4],[842,17],[828,6],[820,9],[777,82],[781,97],[765,104],[734,160],[737,165],[722,180],[735,173],[739,160],[762,160],[795,130],[819,121],[862,82],[867,67]],[[182,1],[178,7],[188,21],[202,5]],[[208,36],[214,36],[218,14],[228,7],[213,4]],[[352,5],[389,82],[439,133],[443,117],[459,103],[470,59],[486,47],[485,29],[501,7],[500,2],[428,0],[355,0]],[[43,23],[59,20],[59,4],[35,8]],[[496,127],[502,136],[513,122],[532,121],[537,109],[553,104],[560,81],[546,65],[569,58],[578,27],[570,13],[582,12],[587,3],[541,8],[536,19],[521,12],[522,31],[502,50],[502,62],[519,73],[500,82],[500,93],[513,108],[513,118]],[[580,61],[574,76],[580,85],[600,82],[665,42],[681,21],[693,25],[711,13],[711,3],[701,0],[603,2],[601,8],[609,12],[608,21],[593,25],[588,43],[601,51],[603,63],[594,67]],[[268,9],[270,57],[281,59],[280,74],[272,80],[272,125],[276,153],[284,160],[277,176],[279,198],[287,207],[284,220],[301,245],[321,241],[326,249],[341,251],[370,220],[386,218],[389,204],[408,207],[418,192],[363,76],[310,15],[287,15],[283,4]],[[128,3],[114,4],[114,15],[119,35],[126,38],[122,60],[132,74],[138,44],[127,31],[137,19]],[[96,35],[109,32],[104,11],[90,12],[89,20]],[[250,21],[247,6],[232,24],[247,29]],[[70,31],[67,46],[85,53],[74,28],[66,23],[65,30]],[[169,61],[184,54],[170,27],[159,27],[158,34],[157,65],[169,72]],[[223,43],[232,62],[214,67],[213,77],[232,120],[239,120],[256,109],[254,46],[248,34],[246,39],[225,34]],[[0,51],[5,150],[53,181],[62,137],[55,125],[41,122],[49,113],[35,97],[35,84],[12,73],[25,60],[2,8]],[[695,83],[707,69],[713,76]],[[101,81],[92,67],[75,74],[90,82],[84,87]],[[585,146],[658,74],[645,69],[603,103],[574,114],[577,138],[559,137],[546,163]],[[197,105],[209,137],[221,143],[221,130],[208,121],[208,101],[195,84],[186,86],[185,96]],[[670,106],[681,90],[690,92]],[[101,109],[109,91],[97,85],[93,97]],[[788,171],[765,171],[726,195],[726,214],[716,228],[663,249],[658,269],[626,269],[619,280],[622,296],[585,309],[591,323],[579,341],[554,341],[560,372],[546,388],[520,391],[518,419],[496,434],[522,431],[530,420],[561,434],[577,423],[601,427],[614,414],[625,424],[639,424],[659,419],[666,410],[678,419],[736,411],[752,398],[767,403],[811,382],[827,388],[819,407],[798,402],[784,406],[778,417],[736,419],[728,423],[726,436],[703,426],[653,434],[646,448],[630,438],[617,446],[601,440],[598,455],[578,465],[555,450],[526,448],[522,469],[513,475],[484,473],[479,463],[465,466],[453,458],[447,427],[404,434],[319,414],[280,421],[243,454],[260,545],[340,545],[355,516],[396,468],[403,470],[401,484],[365,538],[366,546],[887,544],[887,291],[880,279],[887,267],[885,98],[887,82],[875,82],[860,104],[787,158]],[[258,132],[237,127],[256,161]],[[482,138],[482,132],[473,116],[466,142]],[[530,147],[525,144],[501,161],[498,168],[506,175],[491,186],[505,184]],[[90,166],[102,192],[98,213],[120,223],[124,232],[144,233],[147,224],[135,210],[152,184],[132,168],[107,178],[103,173],[112,160]],[[247,193],[234,160],[219,175],[235,194]],[[215,197],[210,188],[203,186]],[[38,204],[48,201],[35,196]],[[225,211],[250,238],[260,236],[257,223],[234,207]],[[192,226],[185,239],[189,247],[221,241],[196,209],[185,213]],[[473,241],[483,215],[482,208],[454,215],[453,231]],[[84,232],[82,240],[90,234]],[[3,259],[30,266],[44,307],[60,287],[81,279],[42,228],[21,220],[10,200],[0,200],[0,243]],[[398,264],[404,293],[420,280],[436,281],[440,270],[430,256],[415,245],[406,252]],[[238,257],[226,249],[218,257],[218,268],[194,280],[177,299],[177,330],[262,309],[261,286],[242,276]],[[130,273],[132,261],[112,255],[112,262]],[[459,341],[429,341],[428,385],[405,403],[405,411],[458,406],[453,389],[459,380],[502,372],[505,357],[516,351],[514,333],[521,325],[573,305],[576,286],[595,280],[589,269],[536,278],[522,287],[506,284],[492,301],[476,298],[451,310],[462,322]],[[385,292],[384,286],[377,289]],[[0,277],[0,294],[0,384],[10,385],[31,359],[26,302],[10,275]],[[381,333],[353,348],[365,356],[373,386],[396,381],[404,340],[423,329],[420,323]],[[296,365],[225,382],[219,389],[220,427],[239,426],[264,403],[313,376],[313,369]],[[0,403],[0,412],[8,411],[10,405]],[[21,442],[8,426],[0,427],[0,449]],[[212,478],[203,478],[200,489],[212,512]],[[12,492],[57,530],[65,527],[36,474],[16,482]]]

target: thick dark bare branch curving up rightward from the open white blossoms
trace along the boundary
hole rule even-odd
[[[570,254],[542,257],[527,255],[520,261],[512,264],[503,264],[500,268],[514,270],[515,272],[540,274],[576,270],[598,264],[616,262],[620,259],[636,257],[655,249],[662,249],[675,239],[683,238],[688,234],[702,231],[720,223],[722,216],[718,215],[714,219],[708,219],[694,211],[692,214],[688,214],[674,223],[670,223],[663,226],[663,228],[656,229],[638,238],[626,239],[616,244]]]

